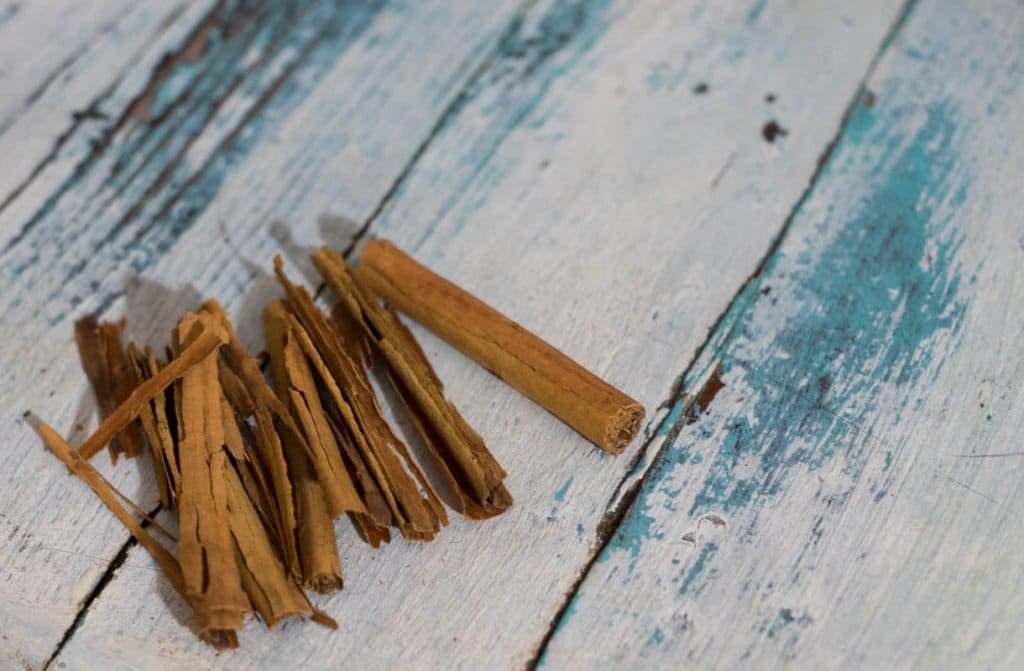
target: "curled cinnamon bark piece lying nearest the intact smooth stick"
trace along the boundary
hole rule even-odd
[[[444,397],[443,386],[412,334],[361,286],[340,254],[324,248],[313,254],[313,263],[384,354],[427,447],[454,485],[462,512],[483,518],[506,510],[512,505],[512,496],[502,484],[505,470]]]

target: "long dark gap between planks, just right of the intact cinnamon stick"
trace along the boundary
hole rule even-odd
[[[673,419],[671,413],[668,413],[662,419],[650,422],[647,428],[645,429],[643,447],[637,451],[636,455],[633,458],[633,461],[630,463],[630,466],[626,471],[626,474],[620,480],[618,485],[615,488],[614,494],[612,494],[611,499],[605,506],[605,510],[603,513],[604,519],[600,525],[598,525],[597,539],[593,547],[591,556],[587,560],[584,568],[577,575],[577,579],[572,583],[572,586],[565,593],[565,598],[563,599],[561,606],[559,606],[558,611],[555,614],[555,617],[552,618],[551,623],[549,624],[548,629],[544,634],[544,637],[541,639],[534,656],[526,663],[525,667],[526,671],[535,671],[540,666],[541,661],[544,659],[544,654],[547,651],[549,643],[557,633],[559,626],[562,624],[562,621],[567,617],[569,613],[569,606],[571,605],[572,600],[579,593],[581,586],[587,579],[587,576],[591,573],[594,563],[603,554],[608,543],[615,535],[615,532],[618,530],[622,522],[626,519],[627,513],[629,513],[630,509],[633,507],[633,504],[636,502],[637,495],[641,491],[644,481],[647,479],[647,476],[655,470],[654,465],[660,459],[664,458],[664,455],[668,450],[669,446],[673,444],[675,438],[682,431],[683,427],[685,427],[687,424],[691,423],[694,420],[694,415],[693,415],[694,401],[703,395],[705,390],[709,386],[709,382],[711,382],[711,380],[713,379],[712,370],[702,372],[694,370],[695,367],[697,366],[697,363],[700,361],[701,354],[703,354],[705,350],[709,346],[711,346],[711,344],[714,341],[721,340],[718,334],[719,329],[722,328],[723,326],[726,326],[727,318],[729,318],[735,309],[742,308],[740,301],[742,297],[745,295],[748,288],[764,272],[765,268],[771,261],[772,257],[774,257],[778,252],[778,249],[781,246],[782,241],[785,239],[786,235],[790,232],[790,228],[793,224],[794,219],[796,218],[797,213],[800,211],[801,207],[807,202],[811,193],[814,191],[815,184],[818,182],[818,179],[820,178],[822,171],[824,170],[825,166],[828,164],[829,159],[831,158],[833,150],[836,148],[837,143],[839,142],[839,139],[846,132],[847,126],[849,125],[850,118],[853,115],[854,110],[857,108],[857,106],[860,103],[860,100],[866,94],[867,82],[873,75],[874,70],[879,65],[879,61],[882,59],[883,55],[892,45],[893,40],[896,38],[896,36],[900,33],[900,31],[902,31],[903,27],[906,25],[906,19],[913,11],[913,7],[915,6],[916,2],[918,0],[903,1],[903,4],[896,15],[896,18],[893,20],[892,26],[889,27],[889,30],[886,32],[885,36],[882,38],[882,41],[879,43],[879,46],[876,48],[874,55],[871,57],[871,60],[868,64],[867,69],[864,71],[863,76],[861,76],[860,81],[858,82],[857,87],[854,90],[853,96],[847,103],[846,110],[843,112],[843,117],[840,120],[839,127],[836,129],[836,132],[833,134],[829,140],[825,143],[824,149],[822,150],[820,156],[818,157],[817,165],[815,166],[814,171],[811,173],[811,176],[808,179],[807,186],[800,195],[800,198],[797,199],[796,203],[790,209],[790,212],[786,215],[785,220],[782,223],[782,226],[779,228],[779,232],[772,239],[771,244],[768,246],[768,249],[765,252],[765,254],[761,257],[761,260],[758,262],[757,267],[750,276],[748,276],[746,280],[744,280],[743,283],[740,284],[739,288],[736,290],[732,298],[726,304],[725,309],[722,310],[722,312],[715,320],[711,329],[709,329],[708,336],[705,338],[703,341],[701,341],[701,343],[694,350],[694,353],[690,359],[690,363],[687,364],[682,374],[680,374],[680,376],[677,378],[672,393],[665,402],[663,402],[658,406],[657,410],[660,411],[667,408],[671,409],[678,404],[681,405],[682,410],[675,419]],[[733,320],[733,324],[736,323],[737,320]],[[729,330],[731,331],[732,327],[730,327]],[[725,338],[725,340],[727,339],[728,338]],[[715,365],[713,365],[712,368],[714,369]],[[695,391],[689,392],[683,388],[683,384],[685,380],[691,379],[694,373],[698,373],[701,375],[702,382],[699,385],[697,385]],[[699,412],[700,410],[703,409],[699,408],[696,409],[697,412]],[[654,450],[654,454],[648,455],[647,454],[648,450],[652,448],[654,442],[659,437],[663,439],[660,441],[658,447]],[[645,457],[649,458],[645,459]],[[646,466],[644,467],[645,464]],[[638,472],[640,470],[642,470],[642,472]],[[630,483],[631,478],[633,478],[632,483]],[[629,483],[629,485],[627,485],[627,483]]]

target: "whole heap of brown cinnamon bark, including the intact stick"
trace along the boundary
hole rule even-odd
[[[386,243],[380,249],[382,259],[408,260]],[[408,266],[415,270],[412,289],[396,293],[401,283],[386,263],[356,272],[326,248],[312,258],[336,302],[322,309],[274,259],[285,297],[263,312],[265,357],[246,350],[213,300],[181,317],[163,355],[134,343],[123,347],[123,322],[81,320],[76,339],[102,421],[77,449],[50,426],[37,427],[151,553],[191,606],[199,636],[218,647],[237,646],[237,632],[252,614],[268,627],[286,618],[336,626],[305,590],[342,587],[339,516],[347,513],[374,547],[389,542],[392,530],[429,541],[447,525],[440,498],[384,418],[368,375],[375,362],[384,366],[458,511],[484,519],[512,505],[505,471],[446,401],[413,334],[364,279],[397,303],[431,290],[424,283],[436,284],[442,297],[421,302],[452,313],[441,322],[485,325],[463,328],[464,337],[450,341],[609,452],[625,448],[643,414],[636,402],[486,306],[442,305],[475,299],[435,283],[444,283],[436,276],[416,276],[429,272],[418,265]],[[423,317],[429,324],[430,314]],[[547,375],[557,384],[574,386],[547,390],[531,357],[553,367]],[[525,381],[517,379],[523,365]],[[91,465],[104,448],[115,462],[148,450],[161,507],[177,515],[176,535]]]

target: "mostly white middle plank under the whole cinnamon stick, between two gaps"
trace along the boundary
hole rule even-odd
[[[438,129],[376,230],[653,410],[800,198],[897,13],[891,2],[751,11],[758,6],[538,3]],[[420,59],[437,48],[409,47]],[[325,92],[303,118],[330,124],[317,110],[336,103]],[[394,110],[364,104],[353,108],[358,119],[392,123]],[[768,142],[762,129],[773,119],[790,133]],[[169,272],[179,254],[213,258],[202,246],[219,244],[218,217],[233,218],[228,230],[240,241],[246,234],[236,237],[236,227],[259,230],[250,219],[268,206],[248,200],[263,203],[261,187],[308,160],[303,148],[344,128],[333,123],[295,125],[282,145],[234,168],[203,215],[207,225],[147,272]],[[344,168],[286,172],[294,191],[278,196],[274,213],[310,236],[301,244],[324,209],[365,212],[323,195],[345,183],[337,177]],[[254,243],[247,255],[264,263],[278,247]],[[186,267],[200,268],[198,286],[226,295],[237,313],[256,311],[268,291],[261,279],[240,299],[230,272]],[[593,551],[630,457],[602,457],[436,340],[425,345],[507,466],[516,507],[485,523],[456,519],[429,545],[379,551],[344,525],[346,588],[321,602],[341,629],[268,635],[253,624],[232,666],[521,668],[535,654]],[[156,665],[163,655],[189,668],[222,665],[175,620],[154,581],[119,571],[60,659],[104,669]],[[154,635],[159,645],[140,642]]]

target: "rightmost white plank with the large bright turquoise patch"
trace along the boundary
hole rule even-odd
[[[1020,3],[916,3],[550,667],[1024,664],[1022,69]]]

